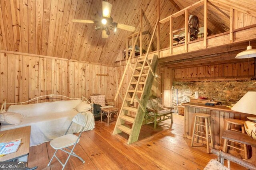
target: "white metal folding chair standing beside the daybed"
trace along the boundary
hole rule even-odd
[[[69,128],[71,127],[73,122],[77,123],[78,125],[81,125],[82,129],[81,129],[81,132],[80,132],[79,136],[76,136],[74,134],[67,134],[68,133],[68,130],[67,130],[65,135],[63,135],[61,137],[57,137],[56,139],[53,139],[52,141],[50,141],[51,147],[56,150],[54,152],[54,155],[52,156],[52,159],[55,157],[60,162],[60,164],[63,166],[62,170],[65,168],[65,166],[66,166],[66,164],[68,162],[68,159],[70,158],[71,155],[79,158],[83,163],[85,162],[80,156],[75,154],[73,152],[73,150],[76,147],[76,144],[79,142],[79,138],[82,135],[82,132],[84,131],[84,127],[85,127],[85,125],[87,123],[87,118],[88,117],[87,117],[86,113],[80,112],[77,115],[75,115],[75,117],[72,119],[72,122],[70,123],[70,125],[68,127],[68,130],[69,130]],[[68,148],[68,147],[70,147],[72,145],[74,145],[72,149]],[[64,149],[68,149],[68,150],[71,150],[71,151],[68,152],[68,151],[66,151]],[[58,150],[62,150],[63,152],[68,153],[68,158],[67,158],[65,164],[63,164],[60,161],[60,159],[56,156],[56,152]],[[52,159],[50,160],[48,166],[50,166],[50,164],[52,162]]]

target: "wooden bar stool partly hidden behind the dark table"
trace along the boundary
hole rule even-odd
[[[241,132],[241,133],[245,133],[245,130],[244,130],[244,120],[239,120],[239,119],[225,119],[226,122],[227,122],[227,127],[226,127],[226,130],[231,130],[231,131],[236,131],[236,132]],[[231,125],[240,125],[241,126],[241,129],[242,131],[238,131],[236,129],[231,129]],[[244,145],[244,149],[240,149],[240,148],[237,148],[235,146],[232,146],[232,145],[229,145],[229,142],[234,142],[234,143],[238,143],[238,142],[235,142],[235,141],[231,141],[231,140],[228,140],[228,139],[224,139],[224,144],[223,144],[223,150],[224,152],[228,152],[228,147],[232,147],[234,149],[238,149],[238,150],[242,150],[244,151],[244,156],[245,156],[245,159],[248,159],[248,151],[247,151],[247,146],[246,144],[242,144],[242,143],[238,143],[240,145]]]

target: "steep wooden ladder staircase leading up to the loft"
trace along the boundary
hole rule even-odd
[[[121,132],[130,135],[128,144],[138,140],[157,64],[157,55],[154,55],[152,59],[139,58],[133,70],[133,76],[130,79],[113,132],[113,135]],[[128,116],[129,112],[135,113],[135,117]],[[126,122],[132,123],[132,125],[128,125]]]

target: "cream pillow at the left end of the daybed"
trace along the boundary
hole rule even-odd
[[[0,123],[19,125],[22,119],[22,115],[14,112],[5,112],[0,114]]]

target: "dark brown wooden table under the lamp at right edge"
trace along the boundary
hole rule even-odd
[[[252,147],[252,157],[247,159],[246,161],[251,162],[252,164],[256,164],[256,140],[252,139],[247,135],[247,133],[239,133],[235,131],[225,131],[223,139],[228,139],[231,141],[243,143],[246,145],[251,145]]]

